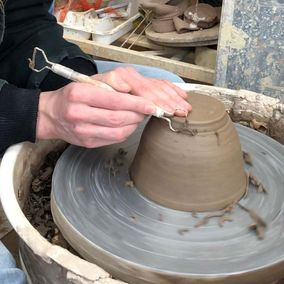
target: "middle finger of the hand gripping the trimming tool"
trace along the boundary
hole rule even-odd
[[[137,124],[144,119],[144,115],[127,110],[109,110],[77,104],[76,109],[69,109],[69,120],[75,123],[89,123],[106,127],[122,127]]]

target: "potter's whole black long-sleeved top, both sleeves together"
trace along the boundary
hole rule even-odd
[[[63,39],[62,28],[48,13],[50,4],[50,0],[9,0],[5,4],[0,78],[10,84],[0,88],[0,155],[10,145],[35,141],[40,89],[54,90],[69,82],[48,71],[29,69],[28,58],[35,46],[42,48],[50,61],[87,75],[97,73],[93,60]]]

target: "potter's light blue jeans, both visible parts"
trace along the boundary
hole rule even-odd
[[[147,67],[136,64],[124,64],[110,61],[95,61],[98,67],[99,73],[104,73],[107,71],[111,71],[116,67],[122,66],[132,66],[134,67],[140,74],[156,78],[168,80],[175,83],[182,83],[183,80],[166,70],[155,68],[155,67]],[[15,260],[13,259],[10,252],[6,249],[6,247],[0,241],[0,284],[23,284],[26,283],[26,277],[23,271],[16,268]]]

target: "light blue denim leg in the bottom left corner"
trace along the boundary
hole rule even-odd
[[[0,241],[0,283],[25,284],[27,283],[24,272],[16,268],[16,263],[10,252]]]

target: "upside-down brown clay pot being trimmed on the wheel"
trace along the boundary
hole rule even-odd
[[[239,137],[223,103],[191,94],[193,111],[166,121],[151,118],[130,167],[138,190],[178,210],[222,209],[241,198],[247,177]]]

